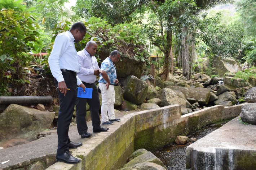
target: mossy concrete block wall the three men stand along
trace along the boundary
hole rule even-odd
[[[83,146],[71,150],[73,156],[81,158],[81,163],[68,165],[57,162],[48,170],[119,169],[137,149],[155,151],[173,142],[177,135],[193,133],[207,124],[228,118],[222,115],[223,110],[220,105],[181,116],[181,105],[171,105],[125,115],[107,132],[98,133]]]

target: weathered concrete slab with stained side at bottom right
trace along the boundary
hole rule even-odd
[[[239,117],[229,121],[187,147],[186,168],[255,170],[255,132],[256,125],[240,123]]]

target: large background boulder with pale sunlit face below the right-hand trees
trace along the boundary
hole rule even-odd
[[[207,69],[209,63],[211,63],[210,59],[203,61],[203,68]],[[240,64],[237,60],[225,58],[222,59],[221,57],[215,57],[216,73],[219,74],[221,77],[224,76],[226,72],[237,73],[238,71],[242,70],[242,64]]]

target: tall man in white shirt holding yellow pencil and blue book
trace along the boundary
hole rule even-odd
[[[54,83],[57,87],[60,104],[57,125],[58,149],[56,160],[67,164],[81,162],[80,159],[70,154],[69,149],[77,148],[82,143],[71,142],[68,133],[77,96],[76,86],[85,88],[77,76],[79,63],[74,42],[78,43],[83,40],[86,31],[87,29],[84,24],[78,22],[69,31],[57,35],[48,60],[50,70],[54,77]]]

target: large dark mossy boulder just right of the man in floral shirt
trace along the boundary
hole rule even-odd
[[[124,89],[125,100],[141,104],[146,99],[149,86],[145,81],[131,75],[125,79],[125,84],[127,84]]]

